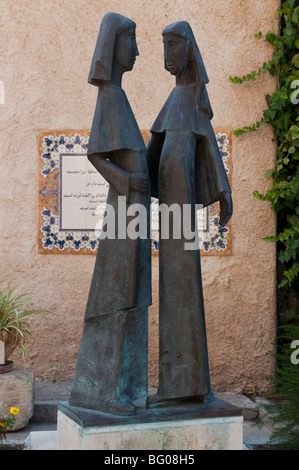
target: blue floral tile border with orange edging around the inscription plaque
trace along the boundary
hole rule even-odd
[[[227,129],[215,130],[219,150],[232,184],[232,133]],[[150,139],[149,131],[142,131],[145,143]],[[86,154],[88,131],[40,132],[39,145],[39,189],[38,189],[38,250],[44,254],[72,253],[95,254],[98,239],[94,231],[59,230],[60,155],[66,153]],[[203,255],[231,255],[231,222],[226,227],[219,225],[219,203],[205,209],[205,227],[200,232],[200,250]],[[152,253],[159,252],[158,231],[152,231]]]

